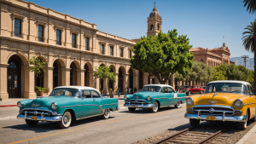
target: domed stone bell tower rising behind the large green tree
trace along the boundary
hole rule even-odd
[[[149,14],[147,22],[148,22],[147,37],[157,36],[158,33],[162,30],[162,18],[160,17],[160,14],[155,8],[155,5],[154,5],[153,11]]]

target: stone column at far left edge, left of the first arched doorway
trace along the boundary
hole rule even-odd
[[[0,101],[6,101],[9,99],[9,94],[7,91],[7,67],[9,64],[0,64]]]

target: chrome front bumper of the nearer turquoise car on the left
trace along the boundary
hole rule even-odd
[[[52,116],[52,117],[32,116],[32,115],[25,116],[25,114],[19,114],[17,116],[18,119],[31,119],[31,117],[37,117],[37,120],[39,121],[49,121],[49,122],[56,122],[56,121],[62,120],[62,116]]]

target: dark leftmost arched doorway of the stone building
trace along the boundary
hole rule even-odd
[[[17,55],[13,55],[8,61],[8,94],[9,98],[21,97],[21,59]]]

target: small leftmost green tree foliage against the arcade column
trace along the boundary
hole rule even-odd
[[[45,62],[42,61],[40,58],[36,58],[35,56],[33,56],[31,59],[28,60],[28,62],[29,65],[31,65],[31,67],[29,67],[29,71],[35,72],[35,78],[37,78],[38,74],[40,74],[41,72],[45,72]]]

